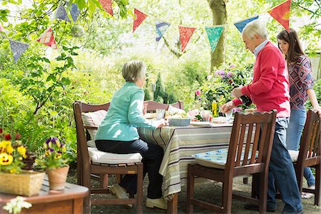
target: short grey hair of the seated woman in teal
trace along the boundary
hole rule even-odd
[[[132,60],[128,61],[123,65],[121,69],[121,73],[123,74],[123,78],[127,82],[136,83],[138,79],[142,79],[146,73],[146,66],[143,61],[140,60]]]

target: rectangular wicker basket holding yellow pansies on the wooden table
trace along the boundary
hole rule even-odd
[[[0,192],[14,195],[39,194],[45,173],[23,170],[20,174],[0,173]]]

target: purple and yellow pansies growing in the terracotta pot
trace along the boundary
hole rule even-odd
[[[68,165],[66,145],[58,141],[58,138],[48,138],[44,143],[43,149],[44,154],[36,160],[36,163],[41,168],[54,169]]]

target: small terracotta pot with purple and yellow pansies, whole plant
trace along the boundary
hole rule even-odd
[[[36,163],[46,169],[49,188],[63,190],[69,170],[66,146],[58,141],[58,138],[50,137],[44,143],[43,152]]]

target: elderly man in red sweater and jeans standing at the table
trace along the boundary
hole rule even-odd
[[[258,111],[277,110],[275,135],[270,159],[267,211],[276,210],[275,183],[280,190],[285,206],[282,213],[303,213],[301,195],[297,187],[295,170],[286,148],[286,130],[290,117],[289,82],[285,58],[276,46],[267,39],[265,25],[259,20],[250,22],[242,32],[245,48],[256,57],[253,82],[248,86],[234,88],[235,96],[222,106],[226,113],[240,105],[240,96],[249,96]],[[246,209],[258,210],[256,205],[245,205]]]

